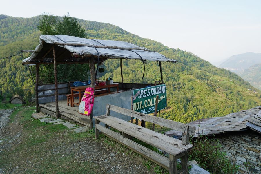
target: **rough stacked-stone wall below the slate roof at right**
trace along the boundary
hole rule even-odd
[[[239,166],[238,173],[261,174],[261,134],[248,130],[226,133],[215,137],[227,157]]]

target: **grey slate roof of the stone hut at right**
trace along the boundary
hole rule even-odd
[[[245,131],[249,128],[261,134],[261,106],[231,113],[224,117],[199,119],[190,122],[188,125],[196,127],[195,137],[201,134],[215,135],[231,131]],[[165,134],[180,136],[181,132],[171,130]]]

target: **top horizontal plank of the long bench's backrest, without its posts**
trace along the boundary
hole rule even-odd
[[[121,113],[123,115],[135,117],[137,119],[144,120],[146,122],[151,122],[154,124],[158,124],[167,128],[171,128],[177,131],[184,131],[186,128],[186,124],[180,123],[180,122],[174,122],[172,120],[160,118],[160,117],[154,117],[148,114],[139,113],[133,110],[121,108],[118,106],[110,105],[110,110],[115,111],[117,113]],[[194,126],[189,126],[189,134],[195,135],[196,128]]]

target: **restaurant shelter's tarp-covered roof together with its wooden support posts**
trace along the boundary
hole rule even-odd
[[[36,111],[39,112],[38,100],[38,85],[39,85],[39,65],[40,64],[54,64],[55,74],[55,113],[58,118],[58,82],[57,82],[57,64],[84,64],[89,63],[91,87],[94,87],[94,82],[97,75],[95,74],[95,64],[97,68],[102,61],[106,59],[120,59],[121,60],[121,77],[122,76],[122,59],[136,59],[143,62],[145,72],[145,61],[157,61],[160,66],[161,83],[163,84],[162,75],[162,61],[177,63],[173,59],[169,59],[164,55],[148,50],[147,48],[139,47],[137,45],[111,40],[85,39],[67,35],[41,35],[39,45],[35,50],[21,50],[21,52],[32,52],[32,55],[22,61],[22,64],[29,64],[36,66],[36,80],[35,80],[35,100]],[[143,73],[144,76],[144,73]],[[143,77],[142,77],[143,78]],[[91,118],[92,119],[92,118]],[[91,123],[90,123],[91,124]],[[90,126],[92,128],[92,125]]]

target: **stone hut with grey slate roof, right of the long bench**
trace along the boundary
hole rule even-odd
[[[224,117],[199,119],[189,123],[198,135],[215,135],[227,157],[239,166],[238,173],[261,174],[261,106]],[[168,131],[170,136],[181,132]]]

